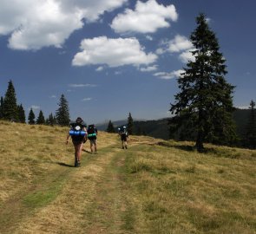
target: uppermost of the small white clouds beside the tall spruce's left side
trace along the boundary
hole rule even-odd
[[[169,42],[168,51],[181,52],[183,50],[193,48],[192,42],[190,42],[186,36],[176,35],[173,40]]]

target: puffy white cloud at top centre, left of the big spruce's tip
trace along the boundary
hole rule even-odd
[[[154,33],[157,29],[170,27],[167,20],[175,22],[177,19],[178,14],[173,4],[164,6],[155,0],[146,3],[138,1],[135,10],[126,9],[123,14],[117,15],[111,28],[117,33]]]

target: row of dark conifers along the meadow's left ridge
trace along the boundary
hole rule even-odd
[[[8,88],[4,97],[1,96],[0,99],[0,120],[26,123],[23,104],[16,104],[16,91],[11,80],[8,82]],[[28,123],[30,125],[69,126],[69,103],[64,94],[62,94],[58,103],[56,115],[51,113],[49,117],[45,119],[43,111],[40,110],[36,118],[33,108],[30,108]]]

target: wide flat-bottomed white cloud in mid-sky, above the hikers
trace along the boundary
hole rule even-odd
[[[122,65],[139,66],[156,61],[157,55],[146,54],[135,38],[107,38],[106,36],[84,39],[72,61],[74,66],[107,64],[109,67]]]

